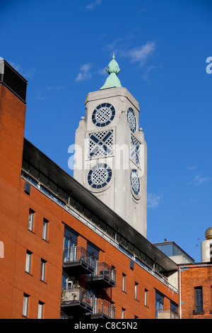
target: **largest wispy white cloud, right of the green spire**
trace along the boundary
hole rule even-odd
[[[155,48],[155,42],[147,42],[146,44],[139,47],[134,47],[134,49],[130,50],[127,53],[128,56],[131,58],[131,62],[138,62],[139,66],[143,66],[146,60],[148,60],[148,57],[153,54]]]

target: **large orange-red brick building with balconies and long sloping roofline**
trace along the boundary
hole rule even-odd
[[[24,139],[27,81],[0,69],[1,319],[177,317],[177,264]]]

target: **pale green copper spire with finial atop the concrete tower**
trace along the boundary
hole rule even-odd
[[[122,86],[119,78],[117,77],[117,74],[120,72],[119,64],[116,60],[114,60],[114,54],[112,56],[111,62],[108,64],[106,72],[109,74],[109,77],[107,77],[104,86],[100,88],[102,89],[108,89],[113,88],[114,86]]]

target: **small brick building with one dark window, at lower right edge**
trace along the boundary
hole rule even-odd
[[[212,229],[201,243],[201,263],[179,265],[179,317],[212,319]]]

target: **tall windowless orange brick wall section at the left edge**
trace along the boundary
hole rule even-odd
[[[0,241],[4,258],[0,258],[0,317],[11,317],[14,300],[20,172],[25,125],[25,104],[0,84]]]

